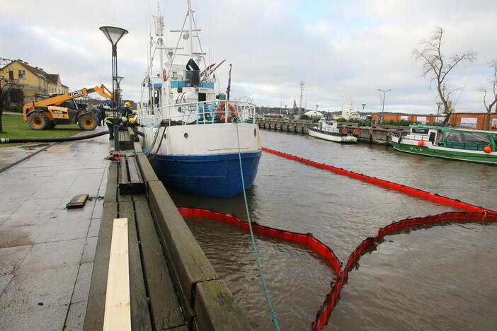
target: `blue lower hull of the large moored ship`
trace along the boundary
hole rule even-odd
[[[262,151],[241,153],[245,187],[256,179]],[[233,197],[242,192],[238,153],[208,156],[164,156],[150,159],[165,185],[207,197]]]

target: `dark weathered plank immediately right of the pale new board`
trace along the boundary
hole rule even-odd
[[[132,328],[133,330],[150,330],[152,323],[150,321],[142,260],[138,246],[135,211],[132,202],[119,203],[119,217],[128,219]]]

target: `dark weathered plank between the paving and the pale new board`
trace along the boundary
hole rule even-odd
[[[117,175],[117,172],[115,171]],[[116,176],[117,179],[117,176]],[[114,182],[115,189],[117,188]],[[107,194],[105,194],[107,198]],[[90,291],[86,305],[84,330],[102,330],[105,294],[107,292],[107,275],[110,255],[110,238],[115,218],[118,217],[117,202],[103,202],[102,220],[98,231],[98,241],[93,261]]]

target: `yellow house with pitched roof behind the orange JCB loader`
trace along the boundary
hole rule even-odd
[[[16,80],[21,84],[25,103],[47,98],[52,94],[69,93],[69,88],[61,83],[59,74],[48,74],[42,68],[30,66],[21,59],[1,68],[0,77]]]

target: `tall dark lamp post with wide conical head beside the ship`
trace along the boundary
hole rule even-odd
[[[112,45],[112,93],[113,93],[113,117],[114,117],[114,150],[119,149],[119,120],[118,120],[118,106],[119,102],[119,82],[122,77],[118,79],[118,42],[127,34],[127,30],[116,28],[114,26],[101,26],[100,30],[107,37]],[[117,93],[116,93],[117,92]]]

